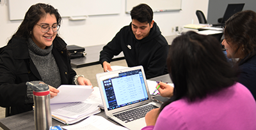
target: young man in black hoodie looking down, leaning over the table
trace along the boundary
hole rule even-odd
[[[124,52],[127,65],[143,66],[147,79],[168,73],[168,43],[153,20],[150,6],[135,6],[131,10],[131,18],[131,24],[123,27],[100,52],[104,71],[112,71],[109,62],[114,55]]]

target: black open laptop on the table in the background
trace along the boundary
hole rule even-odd
[[[228,18],[232,17],[232,15],[234,15],[235,13],[242,11],[243,8],[244,8],[244,3],[243,4],[228,4],[220,24],[212,24],[212,25],[213,26],[214,25],[225,25],[225,22],[228,20]]]

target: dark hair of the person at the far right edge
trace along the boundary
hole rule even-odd
[[[256,13],[252,10],[245,10],[234,14],[225,23],[224,36],[228,44],[234,45],[237,49],[242,47],[243,56],[250,59],[256,54]],[[244,46],[244,47],[243,47]],[[243,62],[246,61],[243,60]],[[239,60],[239,62],[241,59]]]

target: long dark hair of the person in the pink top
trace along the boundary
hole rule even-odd
[[[193,31],[182,33],[173,40],[167,67],[175,87],[173,97],[161,106],[161,110],[181,98],[190,102],[205,98],[237,80],[237,71],[227,62],[218,40]]]

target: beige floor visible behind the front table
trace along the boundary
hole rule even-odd
[[[111,66],[127,66],[125,60],[120,60],[120,61],[113,61],[110,63]],[[96,64],[93,66],[86,66],[83,68],[73,68],[77,75],[84,75],[84,77],[88,78],[91,82],[93,87],[98,86],[97,80],[96,80],[96,74],[97,73],[102,73],[103,68],[101,67],[101,64]],[[5,108],[0,107],[0,119],[5,117]],[[0,127],[0,130],[1,129]]]

